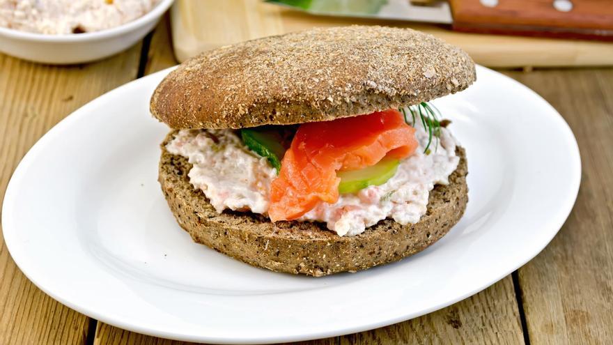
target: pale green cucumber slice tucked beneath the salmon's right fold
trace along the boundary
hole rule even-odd
[[[377,164],[359,170],[340,171],[336,176],[341,178],[339,184],[339,192],[355,193],[369,185],[382,185],[387,180],[396,174],[398,170],[399,160],[391,158],[383,158]]]

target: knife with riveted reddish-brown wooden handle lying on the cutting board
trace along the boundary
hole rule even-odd
[[[612,0],[265,0],[313,15],[443,24],[456,31],[613,40]]]

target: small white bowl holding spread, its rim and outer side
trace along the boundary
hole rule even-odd
[[[44,35],[0,27],[0,52],[40,63],[68,64],[103,59],[141,40],[173,0],[162,0],[142,17],[102,31]]]

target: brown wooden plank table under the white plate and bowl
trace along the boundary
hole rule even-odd
[[[17,163],[54,124],[98,95],[175,63],[166,21],[126,52],[82,66],[41,66],[0,54],[0,198]],[[559,234],[535,259],[471,298],[396,325],[308,344],[613,342],[613,69],[504,73],[543,95],[579,142],[581,190]],[[3,240],[0,310],[0,344],[182,344],[61,305],[24,277]]]

